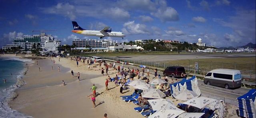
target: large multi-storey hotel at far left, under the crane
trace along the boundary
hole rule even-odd
[[[6,50],[11,47],[22,47],[21,51],[27,52],[33,48],[34,44],[40,44],[43,51],[55,52],[60,51],[61,41],[54,40],[52,35],[46,35],[46,33],[40,33],[40,35],[23,35],[23,37],[16,37],[12,44],[3,46],[2,49]]]

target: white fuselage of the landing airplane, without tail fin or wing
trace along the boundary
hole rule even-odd
[[[122,38],[124,38],[125,37],[124,33],[115,32],[115,31],[106,32],[106,31],[96,31],[96,30],[72,30],[72,32],[86,35],[86,36],[96,36],[96,37],[100,37],[100,38],[104,38],[104,37],[122,37]]]

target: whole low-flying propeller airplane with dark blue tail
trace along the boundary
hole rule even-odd
[[[110,28],[109,26],[105,27],[100,31],[96,31],[96,30],[83,29],[76,23],[76,21],[72,21],[72,24],[74,27],[74,30],[72,30],[72,32],[82,34],[82,35],[96,36],[96,37],[100,37],[100,39],[104,37],[122,37],[122,39],[124,39],[124,37],[126,36],[122,32],[115,32],[115,31],[112,31],[112,29],[109,30]]]

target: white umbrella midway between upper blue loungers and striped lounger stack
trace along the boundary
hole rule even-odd
[[[160,99],[166,97],[166,95],[159,89],[148,89],[141,93],[141,97]]]

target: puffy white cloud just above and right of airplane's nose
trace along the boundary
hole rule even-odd
[[[146,28],[146,25],[144,24],[136,24],[134,21],[128,21],[124,23],[124,28],[122,29],[122,32],[124,34],[149,34],[148,29]]]

